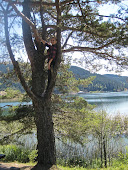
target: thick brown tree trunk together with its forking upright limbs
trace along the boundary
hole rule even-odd
[[[56,60],[54,72],[52,75],[52,79],[50,81],[50,85],[45,87],[46,84],[46,74],[44,70],[45,56],[44,56],[44,48],[40,46],[40,39],[37,38],[38,48],[35,48],[35,44],[32,39],[32,30],[31,25],[28,24],[27,21],[30,19],[30,8],[28,5],[29,0],[24,0],[23,3],[23,22],[22,22],[22,30],[23,30],[23,38],[24,44],[26,47],[26,51],[28,54],[28,58],[31,63],[32,70],[32,88],[29,89],[27,83],[23,75],[21,74],[21,70],[19,68],[18,62],[15,60],[13,55],[10,41],[9,41],[9,32],[8,32],[8,23],[7,23],[7,15],[5,15],[5,34],[8,51],[16,70],[17,75],[21,81],[22,86],[24,87],[27,94],[31,97],[33,102],[33,108],[35,111],[35,123],[37,126],[37,141],[38,141],[38,163],[33,169],[38,170],[49,170],[53,165],[56,165],[56,151],[55,151],[55,136],[54,136],[54,128],[53,128],[53,120],[52,120],[52,112],[50,110],[51,106],[51,94],[52,90],[55,86],[57,70],[61,61],[61,30],[57,29],[57,38],[58,38],[58,57]],[[56,2],[56,7],[58,11],[58,24],[60,23],[60,9],[58,2]],[[15,6],[14,6],[15,7]],[[16,12],[17,9],[16,9]],[[19,12],[18,12],[19,13]],[[24,16],[26,17],[24,20]],[[17,69],[18,68],[18,69]],[[46,89],[46,90],[45,90]],[[44,93],[45,92],[45,93]],[[44,96],[42,97],[42,93]]]

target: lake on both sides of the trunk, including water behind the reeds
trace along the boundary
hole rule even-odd
[[[109,114],[117,114],[120,112],[122,115],[128,114],[128,91],[126,92],[107,92],[107,93],[79,93],[78,96],[85,98],[90,104],[97,105],[96,110],[105,109]],[[21,102],[13,101],[13,100],[0,100],[0,107],[6,107],[8,105],[16,106],[18,104],[22,104]],[[23,104],[27,104],[24,102]],[[29,102],[28,104],[31,104]],[[121,139],[121,140],[120,140]],[[36,146],[36,133],[31,134],[31,136],[21,137],[19,141],[25,143],[26,147],[32,148]],[[70,147],[65,149],[68,145],[63,145],[60,141],[57,141],[57,151],[65,155],[69,155]],[[96,142],[96,141],[95,141]],[[121,148],[122,150],[128,146],[128,139],[125,137],[120,137],[116,139],[116,144],[113,144],[114,149],[118,150]],[[78,144],[76,144],[75,148],[78,149],[79,154],[93,153],[95,149],[97,149],[98,144],[94,145],[94,141],[89,141],[86,144],[85,148],[81,148]],[[72,147],[71,147],[72,148]],[[91,150],[92,149],[92,150]],[[72,150],[71,154],[76,153],[76,150]]]

